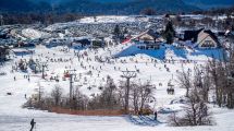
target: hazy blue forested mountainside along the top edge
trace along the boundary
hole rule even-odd
[[[53,3],[58,12],[78,12],[83,14],[138,14],[145,8],[152,8],[158,13],[162,12],[189,12],[198,10],[186,5],[182,0],[134,0],[134,1],[97,1],[97,0],[3,0],[0,1],[2,12],[45,12],[51,10]]]

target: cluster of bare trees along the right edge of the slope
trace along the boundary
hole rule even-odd
[[[234,50],[229,48],[225,55],[209,60],[206,66],[195,66],[194,72],[178,72],[180,87],[186,90],[183,115],[173,114],[173,126],[213,124],[209,105],[234,108]],[[222,55],[221,55],[222,56]]]

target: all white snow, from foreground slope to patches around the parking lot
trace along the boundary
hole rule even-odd
[[[184,17],[200,20],[205,15],[184,15]],[[156,20],[158,19],[162,20],[162,16],[156,17]],[[116,24],[128,27],[134,34],[149,27],[160,28],[162,26],[157,22],[155,23],[157,26],[152,26],[150,21],[150,17],[147,16],[88,16],[75,22],[49,25],[44,28],[45,32],[26,27],[21,33],[12,29],[12,34],[22,39],[39,39],[50,36],[46,32],[52,34],[64,31],[57,35],[59,38],[67,38],[67,36],[72,36],[71,34],[75,34],[75,36],[102,35],[103,33],[110,35]],[[24,50],[14,49],[14,51]],[[162,45],[159,50],[140,50],[134,44],[116,45],[97,50],[75,50],[64,46],[47,48],[37,45],[33,55],[13,56],[11,61],[0,68],[0,74],[2,74],[0,75],[0,131],[27,131],[33,118],[37,122],[36,131],[233,131],[234,110],[218,108],[213,105],[209,106],[213,114],[214,126],[170,127],[168,121],[170,112],[182,109],[183,104],[180,99],[185,94],[185,90],[177,86],[176,72],[183,68],[184,70],[193,69],[194,66],[202,68],[210,58],[222,58],[222,49],[180,49],[171,45]],[[77,55],[84,58],[78,58]],[[106,62],[95,61],[97,57]],[[59,61],[61,58],[62,61]],[[21,59],[37,59],[39,62],[47,62],[46,80],[41,79],[41,73],[35,74],[30,69],[27,72],[12,72],[12,67]],[[171,60],[171,62],[165,63],[164,59]],[[122,71],[138,70],[137,78],[131,81],[143,83],[150,81],[156,87],[153,93],[156,100],[150,106],[152,110],[158,110],[158,121],[151,120],[153,116],[72,116],[22,108],[27,98],[37,93],[39,86],[42,87],[45,95],[49,95],[54,85],[59,84],[63,88],[63,93],[67,95],[70,82],[67,79],[63,80],[62,76],[64,71],[74,69],[79,78],[79,81],[75,81],[74,86],[78,86],[81,92],[88,97],[100,93],[98,86],[106,83],[107,75],[113,78],[114,82],[119,84],[120,81],[123,81]],[[25,79],[25,75],[29,75],[29,81]],[[59,76],[59,82],[50,80],[51,76]],[[175,85],[174,95],[167,93],[169,81]],[[89,87],[91,88],[89,90]],[[8,93],[12,95],[8,95]],[[25,94],[27,98],[25,98]]]

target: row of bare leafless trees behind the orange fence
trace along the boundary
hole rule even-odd
[[[106,84],[98,87],[100,94],[88,97],[79,91],[79,87],[75,87],[72,98],[69,94],[64,94],[62,86],[54,85],[50,93],[36,94],[28,98],[23,107],[46,110],[59,107],[72,110],[122,110],[123,114],[149,114],[148,104],[155,88],[149,86],[149,83],[131,82],[130,96],[126,97],[126,82],[120,83],[118,86],[111,76],[107,76]],[[88,90],[91,88],[88,87]],[[124,110],[126,100],[130,103],[128,110]]]

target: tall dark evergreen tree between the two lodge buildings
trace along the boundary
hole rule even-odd
[[[172,44],[174,41],[175,31],[172,22],[168,22],[165,25],[165,31],[163,32],[163,37],[167,39],[167,44]]]

